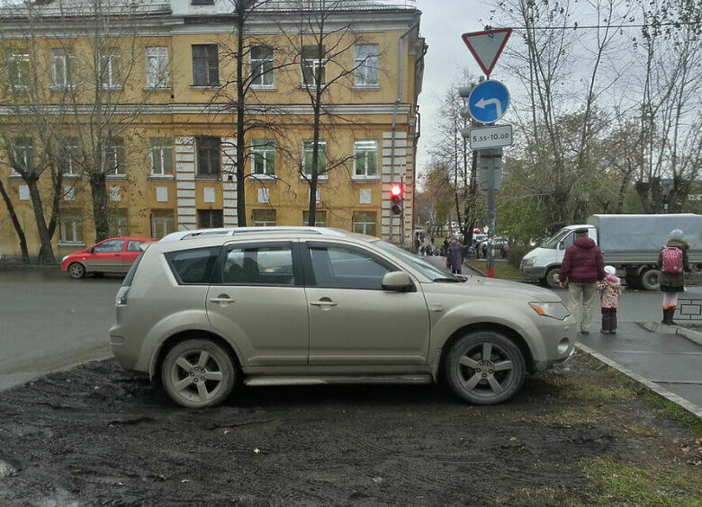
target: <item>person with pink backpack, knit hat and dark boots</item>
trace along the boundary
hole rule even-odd
[[[680,229],[671,231],[668,242],[658,255],[658,270],[663,293],[663,324],[675,325],[672,320],[678,307],[678,293],[685,290],[685,271],[689,271],[689,241],[683,239]]]

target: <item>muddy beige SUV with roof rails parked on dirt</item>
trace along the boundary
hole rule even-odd
[[[465,401],[518,392],[568,360],[554,292],[447,274],[379,239],[318,227],[180,232],[151,243],[117,295],[124,369],[186,407],[247,386],[428,383]]]

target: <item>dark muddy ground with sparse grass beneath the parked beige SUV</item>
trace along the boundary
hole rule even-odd
[[[581,355],[499,406],[241,387],[204,411],[106,360],[0,392],[0,505],[700,505],[699,428],[661,411]]]

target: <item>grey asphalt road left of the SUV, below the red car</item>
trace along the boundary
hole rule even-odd
[[[0,389],[110,357],[121,278],[70,280],[55,271],[0,271]]]

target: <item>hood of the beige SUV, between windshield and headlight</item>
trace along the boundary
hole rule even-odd
[[[527,283],[471,277],[464,282],[439,282],[422,284],[426,294],[455,294],[472,298],[510,298],[531,301],[561,301],[553,290],[543,289]]]

